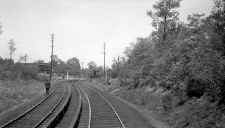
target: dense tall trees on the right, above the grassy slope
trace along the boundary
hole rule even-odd
[[[179,20],[181,0],[159,0],[147,13],[155,30],[138,38],[114,60],[111,76],[121,86],[159,87],[179,97],[225,100],[225,0],[215,0],[210,15]],[[181,100],[182,101],[182,100]]]

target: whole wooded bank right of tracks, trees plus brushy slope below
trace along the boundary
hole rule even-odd
[[[224,128],[225,0],[187,22],[179,20],[180,2],[158,0],[148,11],[155,30],[112,64],[123,86],[116,93],[173,128]]]

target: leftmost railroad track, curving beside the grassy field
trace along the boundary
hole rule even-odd
[[[63,89],[63,91],[61,90]],[[59,86],[41,102],[28,109],[18,117],[1,126],[1,128],[36,128],[50,112],[56,108],[66,95],[68,88]]]

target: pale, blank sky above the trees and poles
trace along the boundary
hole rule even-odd
[[[8,42],[16,43],[15,60],[28,54],[29,62],[48,61],[51,33],[55,35],[55,54],[66,61],[77,57],[87,64],[106,65],[122,56],[137,37],[153,30],[146,15],[156,0],[0,0],[0,56],[9,56]],[[209,14],[213,0],[183,0],[180,19],[192,13]]]

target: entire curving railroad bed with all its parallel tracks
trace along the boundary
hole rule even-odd
[[[154,128],[132,119],[145,120],[120,100],[74,82],[63,82],[37,101],[6,123],[0,121],[0,128]]]

